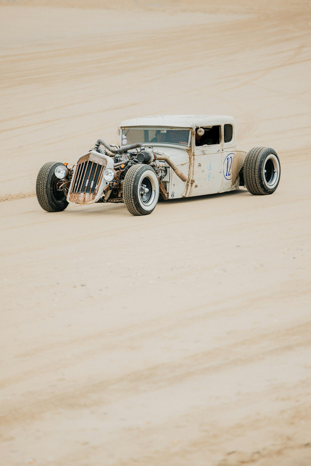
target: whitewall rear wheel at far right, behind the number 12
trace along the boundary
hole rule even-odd
[[[251,194],[272,194],[281,175],[280,160],[270,147],[254,147],[247,154],[244,166],[244,183]]]

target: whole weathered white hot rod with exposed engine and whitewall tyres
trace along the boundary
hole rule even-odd
[[[272,194],[280,161],[267,147],[236,146],[235,120],[228,116],[164,115],[125,120],[119,144],[98,139],[72,168],[41,167],[36,194],[42,209],[59,212],[75,204],[124,202],[133,215],[151,213],[159,196],[176,199],[246,186]]]

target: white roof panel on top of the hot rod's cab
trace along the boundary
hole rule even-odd
[[[166,126],[170,128],[195,128],[196,126],[213,126],[226,123],[235,125],[235,119],[228,115],[152,115],[150,117],[123,120],[119,127]]]

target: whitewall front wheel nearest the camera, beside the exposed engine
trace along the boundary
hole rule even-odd
[[[133,165],[123,183],[123,200],[133,215],[153,212],[159,199],[159,179],[149,165]]]

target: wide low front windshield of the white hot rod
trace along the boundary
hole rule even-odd
[[[122,129],[122,145],[135,143],[150,143],[155,144],[178,144],[189,146],[191,131],[187,129],[171,129],[171,128],[139,128],[137,126]]]

